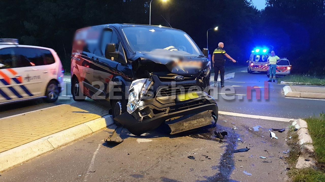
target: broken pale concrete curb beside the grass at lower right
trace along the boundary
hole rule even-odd
[[[297,129],[300,150],[302,152],[298,158],[296,168],[302,169],[315,165],[315,159],[309,157],[314,154],[315,150],[314,146],[312,145],[313,140],[311,139],[307,129],[307,122],[303,119],[297,119],[296,121],[292,122],[292,126]],[[309,159],[309,161],[305,161],[305,159]]]

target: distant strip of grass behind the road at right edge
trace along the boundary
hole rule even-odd
[[[305,76],[292,74],[288,76],[283,76],[277,78],[278,82],[294,82],[294,83],[308,83],[308,84],[300,84],[300,85],[316,85],[316,86],[325,86],[325,78],[318,78],[316,76]]]

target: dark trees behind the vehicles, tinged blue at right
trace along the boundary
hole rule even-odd
[[[0,38],[49,47],[70,70],[75,30],[109,24],[149,24],[149,0],[2,0]],[[187,32],[200,49],[218,42],[239,64],[266,46],[287,57],[295,73],[325,74],[325,6],[323,0],[266,0],[257,10],[251,0],[153,0],[151,24]]]

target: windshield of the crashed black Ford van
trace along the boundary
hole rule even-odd
[[[179,30],[155,27],[124,27],[124,36],[133,51],[169,50],[173,54],[202,55],[194,41]]]

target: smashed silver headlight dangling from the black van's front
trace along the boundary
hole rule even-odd
[[[139,102],[146,95],[152,84],[152,79],[148,78],[138,79],[132,82],[129,89],[129,101],[126,107],[126,110],[129,114],[138,108]]]

